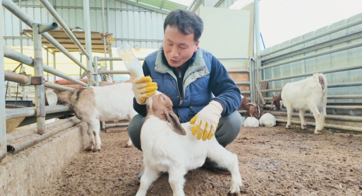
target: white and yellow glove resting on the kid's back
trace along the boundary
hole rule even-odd
[[[201,138],[204,141],[211,139],[219,124],[222,111],[223,106],[219,102],[211,101],[191,119],[190,124],[193,124],[192,135],[196,134],[198,140]]]

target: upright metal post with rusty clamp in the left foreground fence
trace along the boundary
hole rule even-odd
[[[34,76],[44,79],[43,76],[43,57],[42,57],[42,36],[40,33],[40,24],[33,23],[33,43],[34,43]],[[35,110],[37,133],[44,134],[45,130],[45,93],[44,84],[35,84]]]

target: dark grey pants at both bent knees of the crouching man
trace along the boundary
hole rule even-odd
[[[140,141],[141,128],[145,119],[146,117],[137,114],[131,119],[127,128],[128,135],[133,145],[140,150],[142,150]],[[221,117],[215,133],[217,142],[223,147],[226,147],[233,142],[241,130],[242,121],[242,117],[237,111],[229,116]]]

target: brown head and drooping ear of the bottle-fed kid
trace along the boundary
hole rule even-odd
[[[171,99],[160,92],[146,99],[147,115],[153,115],[162,121],[171,123],[172,130],[180,135],[186,135],[179,118],[172,110]]]

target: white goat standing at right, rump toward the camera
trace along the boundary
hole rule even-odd
[[[280,98],[277,98],[280,97]],[[313,76],[306,79],[286,83],[282,89],[281,96],[276,96],[273,102],[283,100],[287,111],[286,128],[290,127],[293,109],[299,110],[301,128],[306,129],[304,113],[310,110],[315,119],[315,134],[324,127],[327,106],[327,79],[322,73],[314,73]],[[277,106],[277,104],[275,104]],[[279,104],[280,105],[280,104]],[[278,109],[278,108],[277,108]]]

